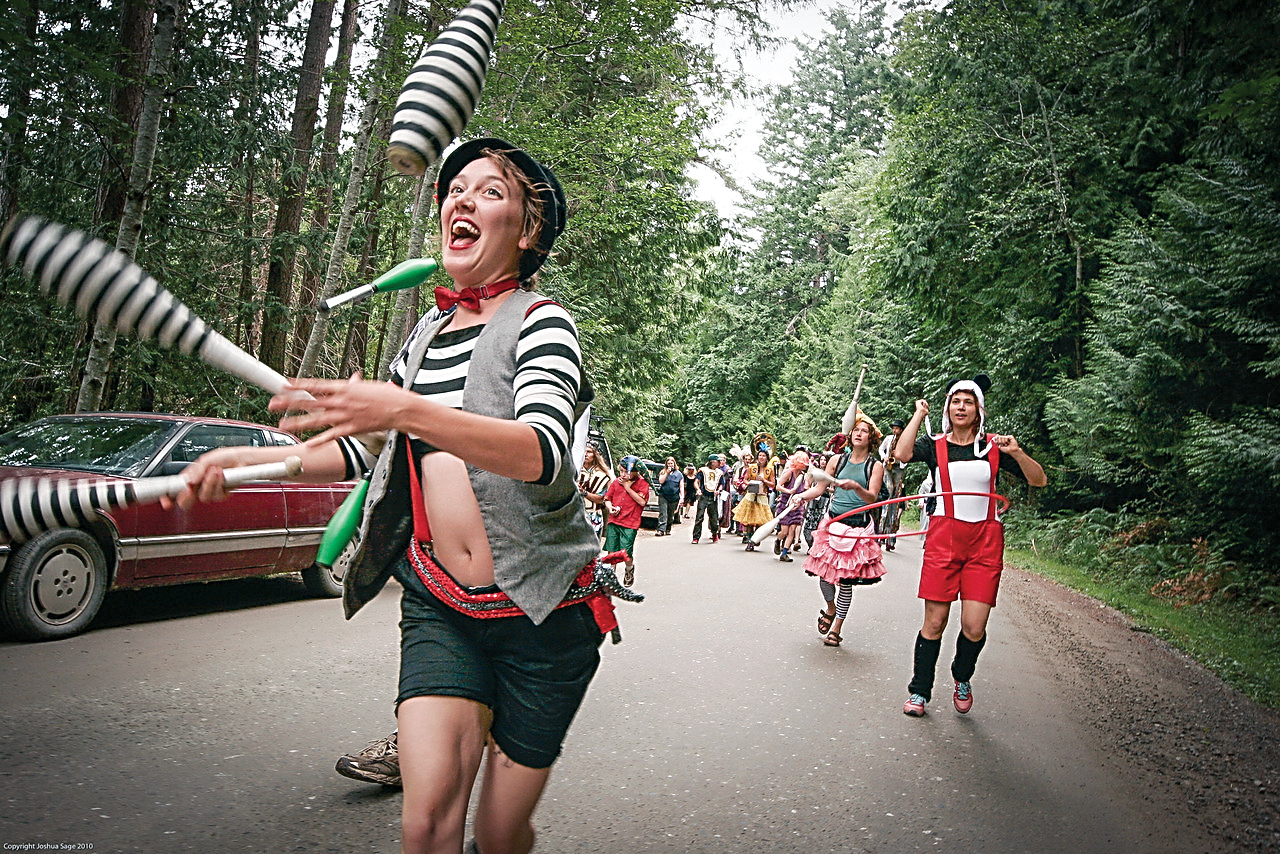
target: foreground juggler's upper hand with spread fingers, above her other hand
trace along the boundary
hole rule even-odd
[[[296,379],[291,389],[311,394],[311,401],[285,392],[271,398],[274,412],[297,412],[280,421],[280,429],[307,433],[329,428],[307,439],[315,447],[339,437],[361,433],[384,433],[399,429],[408,412],[422,398],[394,383],[375,383],[353,374],[348,380]]]

